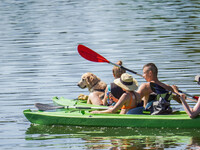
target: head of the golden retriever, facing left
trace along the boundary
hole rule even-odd
[[[81,80],[78,82],[78,86],[82,89],[88,88],[90,91],[90,89],[92,89],[92,87],[95,86],[98,82],[100,82],[100,79],[96,75],[87,72],[82,75]]]

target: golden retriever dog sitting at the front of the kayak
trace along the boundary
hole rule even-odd
[[[87,103],[94,105],[102,105],[102,99],[107,84],[101,81],[93,73],[87,72],[82,75],[81,80],[78,82],[78,86],[82,89],[88,88],[90,94],[88,96]]]

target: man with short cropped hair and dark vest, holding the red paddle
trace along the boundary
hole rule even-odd
[[[152,90],[151,84],[158,85],[159,87],[165,89],[166,91],[174,92],[173,88],[170,85],[167,85],[159,81],[157,75],[158,75],[158,68],[156,67],[154,63],[148,63],[143,66],[143,77],[147,82],[141,84],[137,92],[140,94],[140,97],[144,102],[144,108],[147,108],[148,105],[152,105],[152,102],[153,102],[151,94],[154,91]],[[172,95],[172,97],[178,103],[181,103],[179,96]],[[154,101],[158,101],[158,99]]]

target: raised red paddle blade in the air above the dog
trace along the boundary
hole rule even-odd
[[[109,61],[107,59],[105,59],[103,56],[101,56],[100,54],[96,53],[95,51],[91,50],[90,48],[79,44],[78,45],[78,52],[79,54],[89,60],[89,61],[93,61],[93,62],[107,62],[109,63]]]

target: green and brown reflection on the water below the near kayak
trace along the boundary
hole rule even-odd
[[[26,140],[76,139],[81,141],[80,148],[87,149],[197,149],[199,132],[198,129],[31,125]]]

